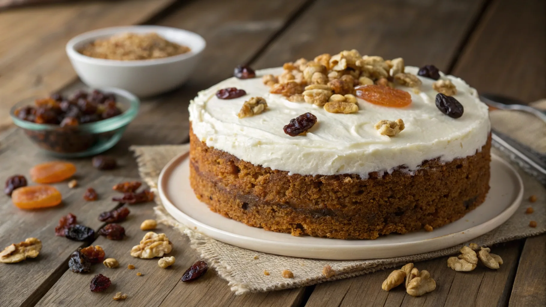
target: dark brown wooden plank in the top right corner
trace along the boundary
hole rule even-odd
[[[478,92],[530,102],[546,97],[546,2],[494,1],[453,74]]]

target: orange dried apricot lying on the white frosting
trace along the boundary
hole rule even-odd
[[[380,85],[357,86],[356,96],[375,105],[405,107],[411,104],[411,95],[401,89]]]

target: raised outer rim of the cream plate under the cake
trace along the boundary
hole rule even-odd
[[[228,237],[232,237],[233,239],[239,239],[239,240],[243,240],[244,242],[247,242],[246,244],[241,244],[241,245],[248,245],[248,244],[251,244],[251,243],[252,244],[257,244],[258,246],[260,246],[262,244],[269,244],[270,246],[272,244],[273,245],[280,245],[281,244],[281,245],[284,246],[284,248],[294,248],[294,250],[300,250],[300,251],[302,250],[301,249],[302,246],[305,246],[305,249],[327,249],[328,248],[328,246],[325,246],[326,244],[315,244],[315,243],[308,244],[308,243],[305,243],[305,242],[302,242],[302,243],[281,242],[281,241],[278,241],[278,240],[268,240],[268,239],[244,236],[244,235],[241,235],[241,234],[237,234],[237,233],[221,230],[221,229],[218,229],[218,228],[213,227],[213,226],[209,226],[209,225],[205,224],[204,222],[196,220],[196,219],[192,218],[191,216],[187,215],[181,209],[177,208],[169,200],[169,198],[167,197],[167,195],[166,195],[166,193],[164,191],[164,188],[163,188],[163,186],[167,183],[167,181],[165,181],[165,176],[167,176],[167,174],[169,174],[169,173],[172,173],[173,170],[174,170],[174,167],[181,164],[185,159],[189,159],[189,152],[185,152],[185,153],[181,153],[181,154],[176,155],[173,159],[171,159],[167,163],[167,165],[165,165],[163,167],[163,169],[159,173],[159,177],[158,177],[158,181],[157,181],[158,194],[159,194],[159,197],[161,198],[161,201],[163,203],[163,207],[167,210],[167,212],[171,216],[173,216],[173,218],[175,220],[177,220],[181,224],[185,225],[188,228],[191,228],[191,227],[189,227],[187,224],[193,224],[193,225],[196,225],[197,227],[199,227],[200,229],[205,229],[205,230],[208,230],[208,231],[210,231],[212,233],[218,233],[218,234],[221,234],[222,236],[228,236]],[[502,212],[497,214],[494,218],[492,218],[492,219],[490,219],[488,221],[485,221],[482,224],[474,225],[474,226],[472,226],[470,228],[467,228],[465,230],[462,230],[462,231],[458,231],[458,232],[454,232],[454,233],[450,233],[450,234],[444,234],[443,236],[438,236],[438,237],[428,238],[428,239],[423,239],[423,240],[418,240],[418,241],[385,243],[385,244],[368,245],[368,246],[341,244],[341,245],[333,245],[331,247],[334,247],[337,250],[342,250],[342,249],[343,250],[358,250],[358,249],[362,249],[362,248],[366,248],[366,249],[381,249],[381,248],[385,248],[385,249],[387,249],[387,248],[404,249],[404,248],[410,247],[410,246],[413,247],[416,244],[417,245],[425,244],[425,243],[434,244],[435,242],[438,242],[438,241],[441,242],[442,238],[455,236],[457,234],[462,234],[462,238],[465,239],[464,241],[461,242],[461,243],[463,243],[463,242],[467,242],[467,240],[474,239],[476,237],[481,236],[482,234],[490,232],[491,230],[493,230],[494,228],[502,225],[509,218],[511,218],[511,216],[515,213],[517,208],[519,208],[519,206],[521,204],[521,201],[523,200],[523,194],[524,194],[523,180],[521,179],[521,176],[519,176],[519,173],[517,172],[517,170],[515,170],[515,168],[512,165],[510,165],[507,161],[502,159],[500,156],[498,156],[498,155],[496,155],[494,153],[491,153],[491,161],[493,161],[493,160],[501,162],[501,164],[503,164],[505,167],[507,167],[512,172],[514,177],[517,179],[517,182],[518,182],[518,185],[519,185],[518,195],[515,196],[512,203],[509,204],[508,207],[506,207],[504,210],[502,210]],[[203,202],[201,202],[201,203],[203,203]],[[203,203],[203,204],[206,206],[205,203]],[[173,213],[175,213],[176,215],[182,216],[182,218],[185,219],[185,221],[180,221],[179,219],[175,218],[175,214],[173,214]],[[246,225],[244,223],[242,223],[242,224]],[[248,226],[248,225],[246,225],[246,226],[247,227],[252,227],[252,226]],[[477,230],[478,227],[481,228],[481,229],[485,228],[486,231],[482,232],[480,234],[472,234],[473,231]],[[256,227],[254,227],[254,228],[256,228]],[[264,251],[264,249],[262,249],[262,250],[260,250],[260,249],[251,249],[251,248],[241,246],[239,244],[233,244],[233,243],[230,243],[230,242],[226,242],[226,240],[224,240],[222,238],[218,238],[218,236],[211,236],[211,234],[204,233],[203,231],[198,231],[198,230],[193,230],[193,229],[192,229],[192,231],[196,231],[198,233],[203,234],[204,236],[211,237],[211,238],[213,238],[215,240],[218,240],[220,242],[224,242],[226,244],[230,244],[230,245],[234,245],[234,246],[239,246],[240,248],[245,248],[245,249],[249,249],[249,250],[267,252],[269,254],[275,254],[275,255],[281,255],[281,256],[300,257],[300,258],[317,258],[317,257],[305,257],[305,256],[301,256],[301,254],[296,255],[296,253],[292,253],[292,254],[291,253],[287,254],[286,252],[273,253],[273,252],[271,252],[271,248],[267,249],[268,251]],[[478,231],[478,232],[481,232],[481,231]],[[287,234],[287,235],[290,235],[290,234]],[[401,235],[403,235],[403,234],[401,234]],[[324,238],[324,239],[341,240],[341,239],[335,239],[335,238]],[[352,241],[355,241],[355,240],[352,240]],[[439,247],[437,247],[437,248],[435,247],[434,250],[430,250],[430,251],[436,251],[436,250],[440,250],[440,249],[443,249],[443,248],[448,248],[448,247],[455,246],[455,245],[458,245],[458,244],[461,244],[461,243],[447,244],[447,246],[446,246],[446,244],[440,244],[440,245],[438,245]],[[426,251],[424,251],[424,252],[426,252]],[[417,254],[420,254],[420,253],[422,253],[422,252],[418,252]],[[411,252],[411,253],[408,253],[408,254],[403,254],[403,252],[402,252],[399,256],[408,256],[408,255],[414,255],[414,254],[416,254],[416,253]],[[362,257],[354,258],[354,257],[349,256],[349,257],[340,257],[340,258],[326,257],[326,258],[323,258],[323,259],[329,259],[329,260],[364,260],[366,258],[362,258]]]

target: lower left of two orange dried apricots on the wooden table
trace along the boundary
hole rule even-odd
[[[11,194],[11,201],[20,209],[39,209],[60,204],[61,192],[51,185],[23,186]]]

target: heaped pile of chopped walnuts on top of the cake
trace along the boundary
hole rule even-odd
[[[300,58],[284,63],[283,69],[278,76],[263,76],[264,84],[271,87],[270,93],[282,94],[292,102],[305,101],[317,106],[331,102],[330,97],[335,94],[354,95],[355,86],[394,87],[393,80],[413,88],[421,84],[417,76],[405,73],[402,58],[385,60],[378,56],[361,56],[357,50],[345,50],[336,55],[324,53],[312,61]],[[395,78],[396,75],[399,76]],[[328,109],[339,113],[358,111],[355,106],[340,107],[339,104],[335,108],[330,104]]]

